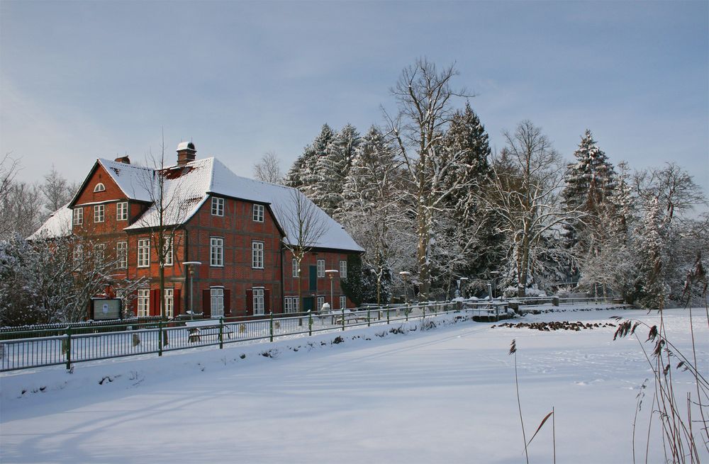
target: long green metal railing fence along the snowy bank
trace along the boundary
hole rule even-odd
[[[4,332],[0,342],[0,371],[57,366],[67,369],[74,363],[108,358],[138,356],[201,346],[269,339],[281,336],[312,335],[317,332],[425,319],[459,312],[454,302],[367,307],[328,313],[261,315],[230,319],[187,319],[163,322],[101,324],[90,327]]]

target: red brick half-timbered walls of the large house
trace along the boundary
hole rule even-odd
[[[102,192],[94,192],[96,183],[104,183]],[[302,263],[301,278],[294,278],[292,271],[292,254],[281,248],[281,230],[274,219],[272,211],[264,205],[264,220],[254,220],[254,203],[235,198],[223,198],[223,216],[212,215],[212,197],[207,198],[185,225],[175,232],[173,242],[173,264],[164,267],[165,288],[174,290],[175,314],[184,313],[190,308],[195,312],[211,311],[211,288],[223,288],[225,317],[238,317],[254,314],[253,290],[264,289],[264,312],[284,312],[284,298],[294,298],[298,295],[298,280],[302,285],[303,298],[312,298],[313,309],[317,297],[322,296],[331,307],[340,308],[340,276],[334,281],[334,300],[330,301],[330,279],[327,276],[317,278],[316,290],[310,288],[310,267],[317,267],[318,259],[325,259],[326,269],[340,269],[340,260],[347,260],[346,252],[319,250],[306,254]],[[117,220],[117,204],[128,201],[128,220]],[[94,222],[94,205],[104,205],[104,222]],[[74,225],[74,234],[91,237],[106,244],[108,259],[116,258],[116,244],[127,242],[128,267],[117,268],[115,276],[123,278],[145,279],[145,287],[150,289],[150,314],[160,314],[160,279],[155,244],[158,236],[149,230],[123,230],[147,210],[147,204],[129,201],[125,194],[113,182],[111,176],[98,165],[91,174],[84,191],[82,191],[75,208],[84,210],[82,225]],[[215,266],[210,262],[211,238],[223,239],[223,266]],[[150,266],[138,267],[138,240],[150,238]],[[263,268],[252,266],[253,243],[262,242],[264,247]],[[193,286],[190,290],[189,270],[184,261],[199,261],[193,276]],[[156,293],[157,292],[157,293]],[[301,301],[298,309],[306,305]],[[347,307],[352,302],[347,300]],[[138,302],[133,300],[128,307],[138,314]]]

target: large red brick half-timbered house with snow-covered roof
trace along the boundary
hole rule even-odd
[[[324,302],[335,309],[353,306],[340,279],[347,277],[347,256],[363,249],[315,207],[324,232],[298,276],[287,247],[297,244],[296,231],[289,230],[296,196],[312,205],[294,188],[237,176],[215,158],[196,159],[194,144],[183,142],[177,164],[165,169],[135,166],[128,157],[97,159],[72,201],[33,237],[73,233],[98,239],[116,257],[116,278],[147,278],[129,308],[139,316],[160,315],[155,252],[160,230],[170,231],[169,237],[162,232],[162,239],[171,317],[189,310],[190,299],[195,312],[225,317],[316,310]],[[201,264],[189,265],[194,268],[190,289],[184,263],[194,262]],[[339,271],[334,301],[325,273],[332,269]]]

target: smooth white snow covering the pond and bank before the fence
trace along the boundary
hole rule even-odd
[[[600,326],[540,332],[449,315],[425,331],[420,321],[396,323],[79,364],[73,373],[61,367],[5,373],[0,460],[520,463],[524,446],[508,355],[516,339],[527,439],[554,407],[558,462],[628,463],[636,396],[651,373],[635,339],[613,341],[615,327],[603,327],[616,323],[609,319],[614,315],[657,322],[637,310],[567,310],[506,321]],[[669,338],[687,349],[686,310],[666,312],[666,323]],[[402,326],[415,331],[387,332]],[[645,335],[639,329],[640,339]],[[705,318],[695,321],[695,336],[708,373]],[[342,343],[333,343],[336,337]],[[683,398],[691,378],[676,380]],[[639,462],[651,398],[649,392],[638,420]],[[709,460],[704,448],[700,453]],[[550,422],[531,444],[530,462],[552,462]],[[661,462],[661,444],[651,444],[649,462]]]

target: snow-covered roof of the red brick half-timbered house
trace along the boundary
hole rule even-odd
[[[116,182],[125,196],[131,200],[151,202],[157,198],[158,183],[156,181],[159,171],[155,169],[133,166],[130,164],[114,162],[109,159],[99,159],[98,163]],[[312,203],[303,193],[295,188],[281,186],[273,183],[256,181],[246,177],[237,176],[227,166],[216,158],[196,159],[182,166],[171,166],[163,171],[164,176],[164,202],[166,206],[163,214],[164,225],[182,224],[189,220],[210,195],[239,198],[254,203],[270,205],[274,216],[281,229],[284,230],[285,241],[295,244],[296,231],[289,223],[289,216],[294,215],[294,196],[299,196],[307,203]],[[155,191],[155,193],[151,193]],[[72,210],[65,208],[61,217],[55,220],[56,225],[48,225],[54,215],[50,217],[42,229],[52,227],[60,230],[67,227],[71,230]],[[58,212],[57,212],[58,213]],[[57,215],[55,213],[55,215]],[[315,208],[318,222],[324,226],[325,232],[316,243],[316,248],[340,249],[346,251],[364,251],[354,242],[338,222],[333,220],[320,208]],[[65,217],[66,216],[66,217]],[[132,225],[125,230],[140,230],[145,227],[155,227],[159,224],[160,207],[155,203],[143,213]],[[61,225],[59,222],[63,222]],[[42,230],[40,229],[40,230]],[[38,231],[40,232],[40,231]],[[36,232],[35,232],[36,233]]]

